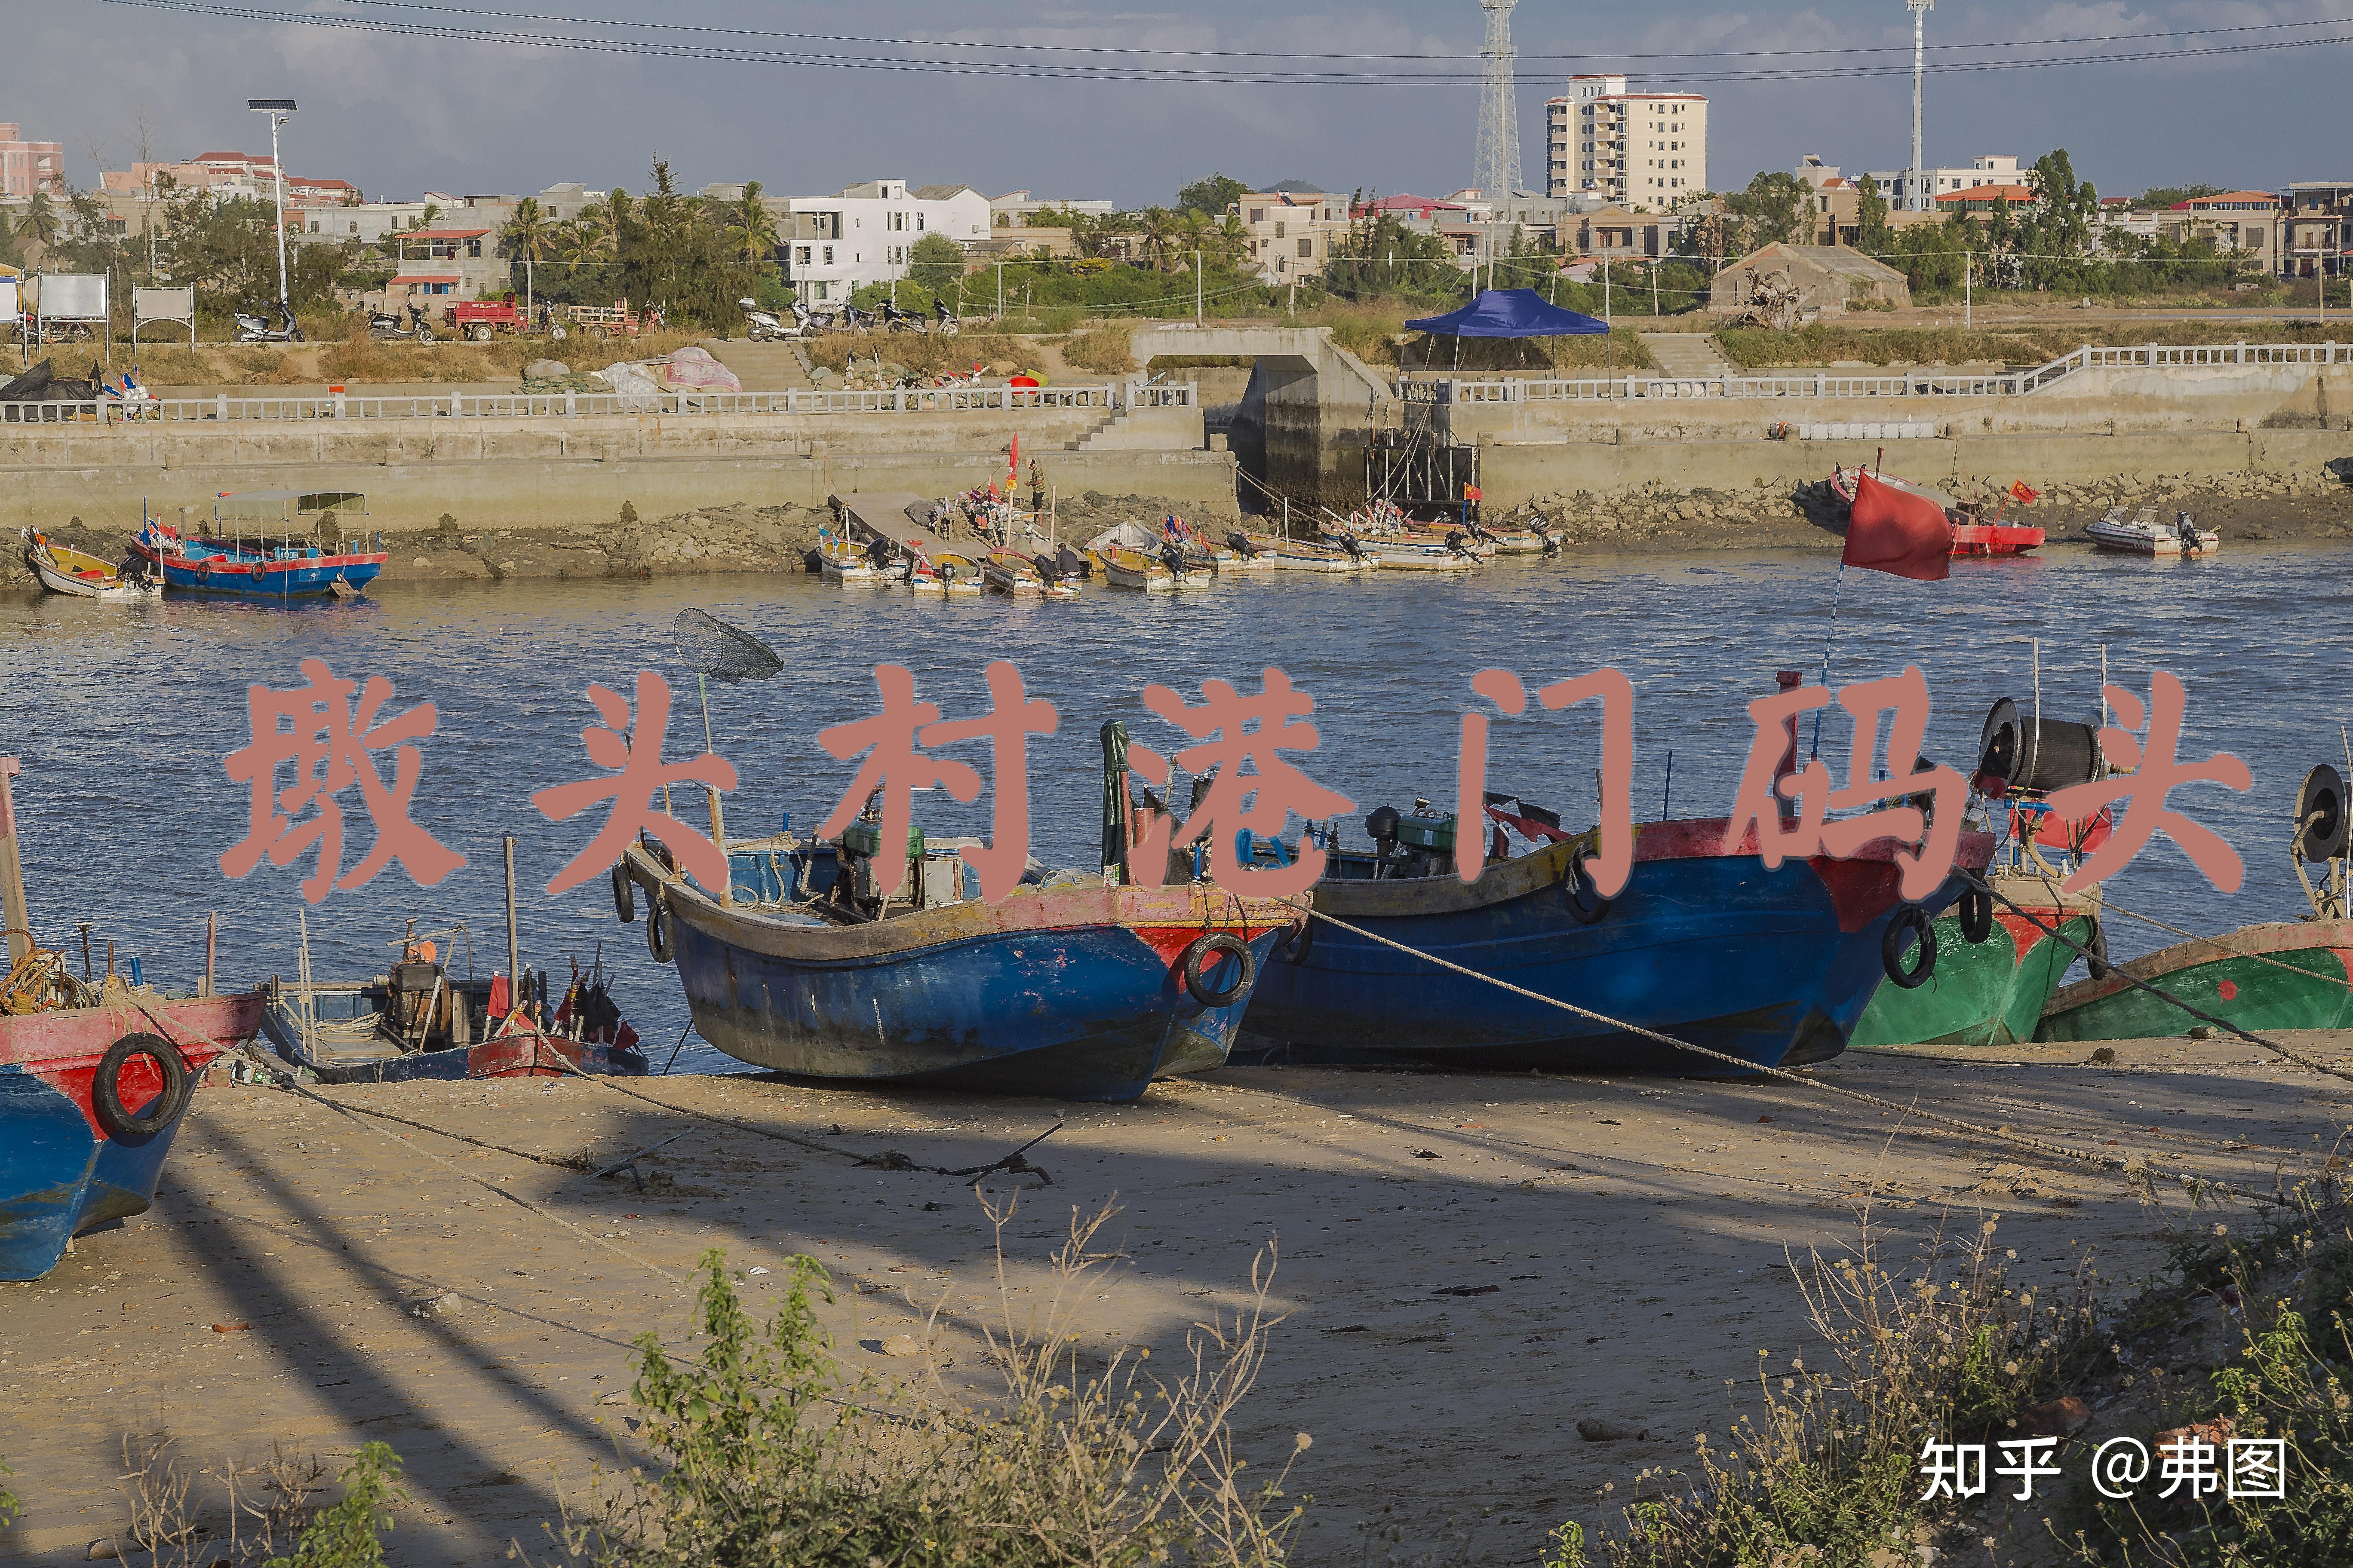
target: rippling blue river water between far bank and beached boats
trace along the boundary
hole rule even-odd
[[[2212,891],[2167,842],[2144,851],[2111,896],[2195,931],[2289,919],[2304,898],[2287,863],[2297,780],[2315,762],[2344,766],[2346,555],[2327,548],[2233,545],[2212,562],[2144,562],[2059,548],[2021,562],[1955,562],[1948,583],[1849,571],[1833,684],[1918,663],[1937,701],[1929,755],[1967,769],[1986,710],[2033,696],[2031,642],[2042,642],[2042,712],[2097,717],[2101,649],[2111,679],[2148,691],[2153,668],[2188,686],[2181,755],[2238,752],[2254,771],[2245,797],[2200,785],[2174,806],[2221,832],[2247,860],[2235,896]],[[1035,853],[1094,865],[1101,809],[1096,729],[1122,717],[1136,741],[1172,752],[1184,736],[1146,712],[1165,682],[1200,701],[1205,677],[1254,686],[1280,665],[1315,696],[1322,745],[1294,757],[1355,799],[1348,823],[1417,795],[1452,802],[1457,724],[1468,675],[1501,665],[1539,684],[1605,663],[1635,682],[1635,816],[1718,816],[1751,743],[1746,703],[1777,668],[1814,679],[1831,623],[1835,562],[1826,555],[1506,559],[1471,581],[1395,574],[1322,578],[1266,574],[1188,595],[1089,590],[1075,602],[915,599],[896,588],[828,588],[816,578],[673,578],[652,583],[511,583],[386,588],[360,604],[261,609],[165,599],[99,607],[0,597],[0,755],[24,757],[16,809],[33,919],[47,943],[73,922],[136,954],[151,980],[188,985],[202,966],[207,910],[221,914],[224,985],[296,969],[296,912],[308,910],[318,976],[381,973],[402,922],[466,922],[473,966],[504,969],[499,837],[515,835],[522,954],[565,976],[602,952],[616,997],[659,1067],[687,1025],[671,971],[645,952],[645,924],[612,917],[602,877],[546,898],[544,886],[602,820],[546,823],[529,795],[588,778],[579,731],[591,682],[631,691],[640,668],[678,691],[668,755],[699,750],[694,679],[671,654],[671,618],[694,604],[765,637],[786,658],[767,684],[713,689],[718,750],[741,788],[734,835],[774,830],[781,813],[814,827],[854,762],[814,741],[875,710],[871,668],[904,663],[918,693],[948,717],[984,708],[981,672],[1012,658],[1031,696],[1061,710],[1061,731],[1031,743]],[[299,663],[393,682],[386,712],[438,705],[424,743],[414,816],[468,865],[435,889],[393,867],[367,889],[306,905],[311,860],[264,863],[242,882],[216,858],[245,835],[245,790],[221,759],[247,745],[252,682],[292,689]],[[1593,816],[1598,717],[1534,710],[1499,719],[1489,788],[1525,790],[1572,823]],[[1847,736],[1833,717],[1826,759]],[[1673,799],[1666,802],[1668,752]],[[960,748],[986,773],[984,748]],[[1842,762],[1840,762],[1842,766]],[[388,771],[388,764],[386,764]],[[285,783],[289,773],[282,773]],[[981,802],[920,797],[932,832],[986,832]],[[682,818],[706,825],[696,799]],[[372,830],[346,792],[358,865]],[[2111,922],[2118,957],[2172,938]],[[464,943],[452,945],[464,966]],[[678,1070],[734,1063],[687,1041]]]

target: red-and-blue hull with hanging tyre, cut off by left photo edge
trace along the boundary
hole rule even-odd
[[[99,1058],[125,1034],[162,1034],[200,1077],[224,1046],[261,1027],[259,990],[125,1006],[0,1018],[0,1279],[40,1279],[66,1241],[94,1225],[146,1213],[186,1117],[160,1133],[122,1138],[99,1126],[89,1103]],[[122,1105],[141,1114],[162,1093],[146,1060],[127,1065]]]

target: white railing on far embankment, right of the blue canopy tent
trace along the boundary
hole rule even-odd
[[[1560,381],[1454,381],[1412,378],[1398,383],[1407,404],[1506,404],[1595,402],[1619,397],[2021,397],[2057,386],[2085,369],[2200,369],[2214,364],[2353,364],[2353,343],[2202,343],[2144,348],[2078,348],[2028,371],[1932,374],[1906,371],[1854,376],[1814,371],[1805,376],[1588,376]]]

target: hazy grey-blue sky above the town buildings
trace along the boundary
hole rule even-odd
[[[428,0],[0,0],[0,19],[16,42],[0,120],[61,141],[82,186],[96,183],[101,167],[136,160],[141,141],[160,160],[266,150],[266,122],[245,99],[294,96],[301,113],[287,129],[287,167],[351,179],[372,197],[529,193],[560,181],[640,190],[661,153],[687,188],[760,179],[774,195],[824,195],[866,179],[908,179],[1122,207],[1169,202],[1209,172],[1329,190],[1457,190],[1471,183],[1485,28],[1475,0],[1191,0],[1169,9],[1052,0],[489,0],[487,9]],[[355,21],[407,31],[348,26]],[[419,28],[567,35],[593,47]],[[2181,28],[2209,33],[2184,38]],[[2137,33],[2160,38],[2085,42]],[[1929,14],[1927,38],[1932,61],[2005,61],[1927,78],[1929,165],[1967,165],[1977,153],[2033,162],[2064,146],[2078,176],[2111,195],[2188,181],[2282,188],[2353,179],[2353,42],[2282,47],[2353,40],[2353,0],[2146,9],[1946,0]],[[1638,89],[1706,92],[1715,188],[1788,169],[1807,153],[1849,172],[1908,162],[1911,16],[1901,0],[1774,12],[1520,0],[1513,42],[1529,188],[1541,190],[1544,179],[1544,99],[1565,92],[1577,71],[1621,71]],[[2181,54],[2026,63],[2144,49]],[[760,52],[765,59],[746,59]],[[809,54],[873,63],[807,63]],[[1113,75],[1071,80],[1038,66]],[[1139,71],[1151,80],[1134,80]],[[1240,80],[1247,75],[1259,80]]]

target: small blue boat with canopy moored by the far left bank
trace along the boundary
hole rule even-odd
[[[384,538],[353,527],[365,520],[367,496],[351,489],[221,491],[207,531],[141,517],[132,550],[181,592],[348,597],[384,571]]]

